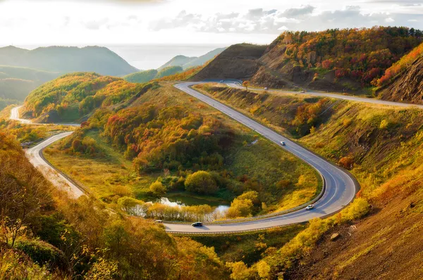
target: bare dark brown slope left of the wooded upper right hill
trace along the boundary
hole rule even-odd
[[[198,72],[193,80],[202,79],[249,79],[260,68],[258,59],[266,51],[266,46],[236,44],[223,51],[206,67]]]

